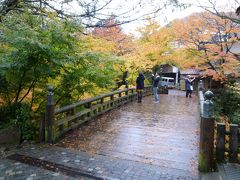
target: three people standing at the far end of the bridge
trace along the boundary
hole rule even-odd
[[[142,102],[142,93],[144,89],[144,80],[145,77],[142,72],[139,73],[137,79],[136,79],[136,91],[137,91],[137,98],[138,103]],[[192,91],[193,91],[193,81],[195,80],[194,77],[191,77],[190,75],[187,76],[185,79],[185,89],[186,89],[186,98],[192,97]],[[159,102],[159,96],[158,96],[158,84],[160,81],[160,76],[158,73],[152,74],[152,81],[153,81],[153,95],[154,95],[154,102]]]

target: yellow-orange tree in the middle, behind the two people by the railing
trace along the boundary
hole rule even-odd
[[[134,41],[135,50],[127,54],[126,65],[130,71],[130,81],[135,83],[139,71],[151,72],[159,64],[173,64],[167,54],[171,52],[171,32],[151,18],[143,27],[137,29],[139,37]]]

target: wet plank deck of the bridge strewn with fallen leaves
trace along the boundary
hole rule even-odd
[[[145,97],[68,133],[57,145],[197,174],[197,97],[172,90],[160,103]]]

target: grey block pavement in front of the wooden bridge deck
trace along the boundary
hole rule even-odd
[[[190,171],[183,171],[174,168],[169,169],[161,166],[145,164],[142,162],[118,159],[99,154],[89,154],[87,152],[69,150],[49,145],[24,147],[22,149],[17,150],[14,153],[14,155],[15,161],[5,160],[3,161],[3,164],[8,164],[9,162],[12,162],[14,165],[16,165],[16,163],[20,163],[18,165],[25,166],[26,172],[24,172],[24,174],[26,175],[24,177],[27,178],[31,178],[31,175],[36,175],[38,177],[39,174],[43,173],[47,174],[49,177],[53,177],[53,179],[54,175],[58,175],[57,178],[59,179],[61,179],[61,177],[67,178],[69,177],[72,179],[77,178],[77,179],[109,179],[109,180],[199,179],[198,175],[194,175]],[[25,163],[23,163],[23,161],[21,159],[16,158],[16,156],[24,157],[26,159],[27,158],[33,159],[35,161],[35,164],[34,163],[25,164],[28,162],[26,161]],[[9,156],[9,158],[14,159],[14,156]],[[36,159],[39,161],[42,160],[42,163],[45,163],[45,165],[46,163],[48,163],[50,165],[55,165],[56,167],[53,168],[52,171],[49,171],[48,169],[46,169],[46,166],[45,167],[44,165],[39,166],[36,163]],[[16,162],[16,160],[21,162]],[[11,167],[13,167],[14,165],[11,165],[10,167],[4,165],[5,168],[2,168],[3,170],[0,172],[3,172],[5,173],[5,175],[7,175],[9,174],[10,171],[8,171],[7,174],[6,171],[11,170]],[[30,170],[31,168],[29,167],[33,168],[33,170]],[[62,168],[63,169],[65,168],[65,170],[66,169],[71,170],[72,174],[66,173],[66,171],[63,171]],[[28,170],[29,172],[27,172]],[[12,169],[11,172],[16,171]],[[43,177],[45,177],[45,175]]]

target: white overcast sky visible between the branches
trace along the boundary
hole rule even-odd
[[[98,6],[101,7],[101,5],[105,4],[109,0],[81,0],[80,2],[84,3],[92,3],[92,2],[99,2]],[[104,15],[111,15],[115,14],[118,17],[118,20],[120,21],[126,21],[126,20],[133,20],[133,19],[138,19],[136,21],[127,23],[123,25],[123,30],[126,33],[133,33],[135,34],[135,30],[139,26],[144,26],[146,21],[142,21],[141,18],[139,17],[146,17],[149,15],[149,13],[153,12],[156,9],[159,9],[162,7],[163,2],[166,0],[111,0],[111,3],[108,4],[106,7],[104,7],[103,10],[99,11],[97,16],[101,17],[101,14]],[[211,5],[215,4],[217,5],[217,9],[219,11],[235,11],[236,7],[240,5],[238,1],[240,0],[179,0],[182,3],[186,4],[192,4],[191,7],[180,10],[174,8],[171,5],[168,5],[167,8],[162,9],[158,11],[155,16],[156,20],[160,23],[161,26],[164,26],[171,22],[173,19],[176,18],[184,18],[194,12],[201,12],[203,11],[203,8],[200,6],[204,7],[213,7]],[[53,1],[54,2],[54,1]],[[55,0],[55,5],[58,4],[58,1]],[[60,6],[58,6],[60,7]],[[75,12],[75,13],[81,13],[82,9],[79,8],[78,4],[72,3],[71,6],[66,6],[64,7],[68,8],[69,12]],[[152,16],[153,14],[151,14]],[[106,18],[106,17],[105,17]]]

